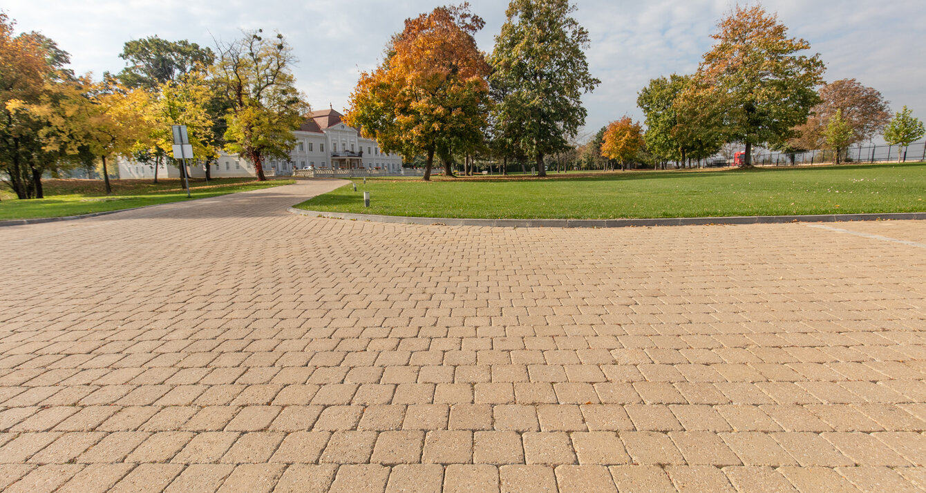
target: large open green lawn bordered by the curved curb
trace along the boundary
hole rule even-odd
[[[387,216],[629,218],[926,211],[926,164],[611,172],[548,179],[354,179],[297,207]],[[370,192],[370,207],[363,205]]]

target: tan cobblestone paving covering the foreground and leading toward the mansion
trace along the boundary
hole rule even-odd
[[[0,229],[6,491],[913,491],[926,222]]]

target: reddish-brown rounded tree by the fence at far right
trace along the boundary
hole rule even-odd
[[[846,143],[870,141],[881,133],[891,119],[887,101],[877,90],[865,87],[855,79],[836,80],[820,88],[820,104],[813,107],[807,122],[795,128],[795,137],[788,144],[801,150],[820,149],[826,143],[824,135],[830,118],[841,112],[852,138]]]

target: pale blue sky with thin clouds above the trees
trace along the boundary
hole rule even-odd
[[[502,0],[472,0],[485,19],[477,35],[490,52],[505,21]],[[648,80],[691,73],[710,34],[734,0],[575,0],[591,34],[587,51],[601,86],[585,96],[590,132],[625,114],[641,117],[636,93]],[[213,45],[241,30],[281,31],[300,62],[298,85],[314,108],[343,109],[361,70],[382,47],[437,0],[5,0],[20,31],[42,31],[69,51],[78,72],[119,71],[122,43],[158,35]],[[893,109],[926,118],[926,25],[923,0],[766,0],[794,36],[807,39],[827,64],[827,80],[855,78],[882,92]]]

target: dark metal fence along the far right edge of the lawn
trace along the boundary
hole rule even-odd
[[[885,163],[898,160],[903,163],[926,161],[926,141],[913,142],[907,147],[887,144],[853,146],[845,149],[840,158],[843,163]],[[835,162],[836,153],[832,150],[753,154],[753,164],[757,166],[817,165]]]

